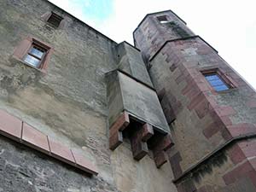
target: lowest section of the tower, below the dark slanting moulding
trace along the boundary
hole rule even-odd
[[[253,192],[255,187],[255,139],[224,148],[177,184],[182,192]]]

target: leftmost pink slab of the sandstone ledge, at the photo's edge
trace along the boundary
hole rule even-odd
[[[22,121],[9,113],[0,110],[0,132],[6,137],[17,141],[21,137]]]

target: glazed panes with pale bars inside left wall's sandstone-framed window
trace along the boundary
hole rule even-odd
[[[24,57],[24,61],[27,64],[32,65],[32,67],[40,68],[46,54],[47,49],[33,42],[31,48]]]

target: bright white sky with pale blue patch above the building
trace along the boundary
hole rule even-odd
[[[148,13],[172,9],[256,88],[255,0],[49,0],[117,43]]]

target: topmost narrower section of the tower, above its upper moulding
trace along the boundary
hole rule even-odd
[[[166,16],[166,23],[160,23],[158,17]],[[148,60],[162,47],[166,41],[187,38],[195,34],[186,27],[186,23],[172,11],[148,14],[133,32],[134,42],[141,49],[143,59]]]

